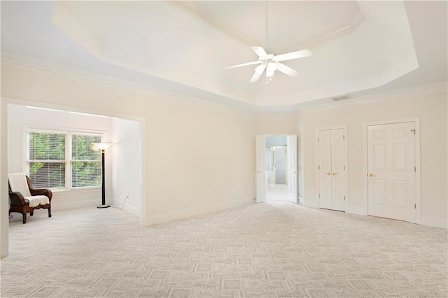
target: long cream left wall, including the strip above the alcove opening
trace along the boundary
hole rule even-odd
[[[256,121],[252,115],[161,92],[109,87],[113,84],[11,65],[1,69],[1,86],[2,101],[21,99],[141,118],[144,224],[253,202]]]

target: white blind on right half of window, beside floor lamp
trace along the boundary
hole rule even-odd
[[[91,146],[101,139],[98,135],[71,134],[71,187],[101,185],[101,151]]]

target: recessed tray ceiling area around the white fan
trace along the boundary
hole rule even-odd
[[[418,68],[401,1],[62,1],[53,22],[104,62],[262,106],[379,87]],[[313,55],[284,63],[298,76],[248,83],[255,66],[225,67],[257,61],[255,41],[269,54]]]

